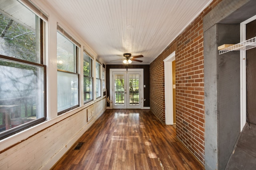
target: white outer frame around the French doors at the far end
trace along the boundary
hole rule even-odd
[[[110,68],[109,69],[109,98],[110,109],[113,109],[113,72],[140,72],[140,108],[144,107],[144,69],[143,68]]]

